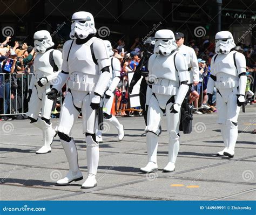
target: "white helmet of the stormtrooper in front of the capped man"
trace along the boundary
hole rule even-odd
[[[171,30],[163,29],[154,34],[156,42],[154,44],[154,54],[169,56],[178,47],[175,42],[174,33]]]

